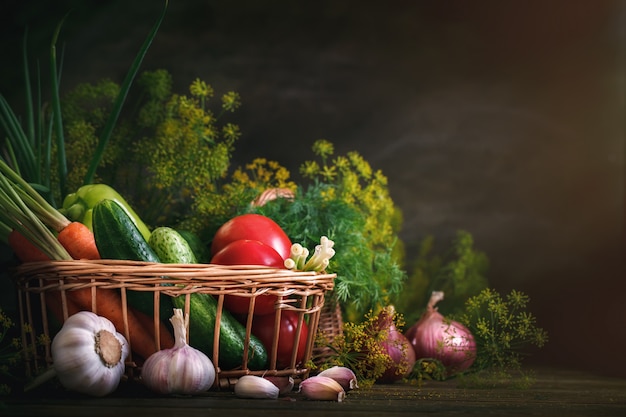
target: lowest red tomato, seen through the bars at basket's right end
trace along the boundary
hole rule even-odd
[[[278,334],[278,348],[276,350],[276,366],[287,368],[291,364],[291,354],[294,346],[298,343],[296,364],[304,360],[306,339],[309,334],[309,326],[302,322],[300,338],[296,341],[299,314],[292,310],[283,310],[280,315],[280,330]],[[263,346],[271,355],[272,341],[274,340],[274,321],[276,313],[254,317],[252,320],[252,334],[261,340]]]

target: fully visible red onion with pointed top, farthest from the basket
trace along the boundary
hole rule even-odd
[[[448,320],[437,311],[443,300],[442,291],[433,291],[428,308],[405,336],[415,350],[417,359],[437,359],[449,375],[468,369],[476,359],[476,342],[469,329],[454,320]]]

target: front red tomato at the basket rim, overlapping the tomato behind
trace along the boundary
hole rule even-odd
[[[284,268],[283,258],[271,247],[256,240],[236,240],[226,245],[213,256],[211,263],[218,265],[264,265]],[[259,295],[254,301],[254,314],[269,314],[274,311],[275,295]],[[224,307],[231,313],[248,314],[250,299],[226,294]]]

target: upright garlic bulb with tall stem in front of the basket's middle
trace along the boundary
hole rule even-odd
[[[187,344],[183,311],[174,309],[174,346],[153,353],[141,369],[144,384],[159,394],[198,394],[215,382],[213,362],[203,352]]]

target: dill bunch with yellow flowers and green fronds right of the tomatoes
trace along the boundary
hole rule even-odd
[[[293,199],[276,199],[261,207],[247,205],[244,210],[274,219],[293,242],[304,247],[313,247],[320,236],[334,241],[336,255],[327,268],[337,274],[333,296],[348,321],[359,321],[402,291],[406,273],[397,235],[399,210],[382,172],[373,172],[357,152],[329,162],[334,148],[326,140],[316,141],[313,152],[321,162],[302,164],[309,182],[299,185]],[[261,181],[262,187],[267,185]]]

